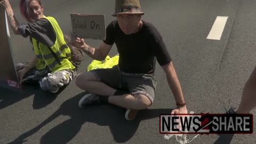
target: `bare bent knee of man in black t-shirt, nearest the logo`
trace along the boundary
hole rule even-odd
[[[135,94],[134,95],[136,101],[137,101],[137,106],[139,109],[146,109],[151,106],[151,100],[143,94]]]

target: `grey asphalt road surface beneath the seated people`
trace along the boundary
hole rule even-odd
[[[11,3],[18,21],[25,22],[18,1]],[[256,1],[141,0],[141,6],[146,13],[142,19],[153,23],[163,36],[188,111],[225,113],[225,108],[237,107],[256,66]],[[105,14],[108,25],[115,19],[111,17],[114,9],[114,0],[44,1],[45,15],[55,17],[66,34],[71,31],[70,13]],[[228,17],[220,40],[206,39],[218,16]],[[86,42],[95,47],[101,43],[92,39]],[[28,38],[11,32],[11,43],[15,63],[33,56]],[[116,53],[114,45],[110,56]],[[86,57],[78,71],[86,70],[91,61]],[[57,95],[36,86],[26,87],[23,93],[0,88],[0,143],[179,143],[159,133],[159,115],[169,114],[175,101],[159,65],[156,78],[153,105],[130,122],[124,118],[125,109],[116,106],[79,109],[77,103],[85,92],[74,82]],[[255,143],[255,136],[199,135],[191,143]]]

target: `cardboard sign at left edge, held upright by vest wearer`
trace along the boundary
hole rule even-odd
[[[12,58],[8,21],[2,6],[0,6],[0,44],[0,86],[19,88],[16,85],[18,77]]]

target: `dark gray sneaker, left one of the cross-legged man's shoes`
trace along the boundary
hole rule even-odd
[[[85,108],[87,106],[100,104],[100,103],[101,103],[101,101],[100,101],[99,95],[89,93],[89,94],[84,95],[84,97],[81,100],[79,100],[78,107]]]

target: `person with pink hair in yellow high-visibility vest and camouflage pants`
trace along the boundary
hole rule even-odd
[[[76,67],[71,62],[71,51],[64,40],[58,22],[45,17],[41,0],[21,0],[20,12],[28,23],[19,23],[9,0],[0,0],[6,10],[13,33],[30,37],[35,55],[25,63],[18,63],[17,75],[20,84],[36,82],[44,91],[56,93],[76,76]]]

